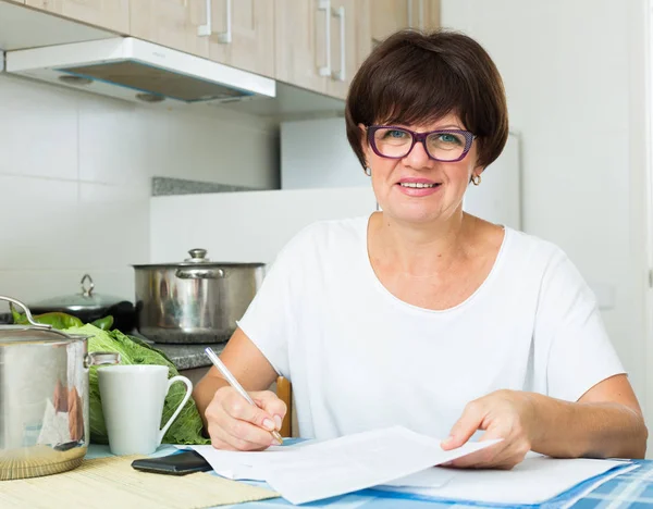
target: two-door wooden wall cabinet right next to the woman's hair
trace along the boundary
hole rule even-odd
[[[344,99],[371,49],[369,0],[276,0],[275,78]]]

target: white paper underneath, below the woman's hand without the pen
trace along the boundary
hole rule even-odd
[[[415,477],[416,482],[411,487],[380,486],[379,488],[447,500],[531,505],[550,500],[583,481],[625,464],[630,463],[595,459],[554,459],[529,454],[513,470],[452,469],[451,479],[442,483],[439,469],[429,469],[420,472],[419,477]],[[599,484],[608,479],[608,476],[602,479]],[[419,483],[422,487],[419,487]],[[470,489],[471,486],[473,489]],[[595,486],[596,484],[593,485]]]

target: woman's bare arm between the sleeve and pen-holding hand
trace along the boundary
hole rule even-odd
[[[220,360],[248,392],[266,390],[276,380],[274,368],[241,328],[236,328],[220,355]],[[193,398],[197,404],[205,427],[207,426],[206,411],[215,392],[227,385],[227,382],[213,367],[195,386]]]

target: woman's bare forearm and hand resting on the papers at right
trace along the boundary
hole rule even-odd
[[[497,390],[471,401],[443,448],[477,430],[503,442],[453,462],[454,467],[513,468],[529,450],[557,458],[643,458],[648,431],[626,375],[600,382],[577,402],[541,394]]]

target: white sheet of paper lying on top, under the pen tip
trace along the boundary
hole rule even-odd
[[[293,504],[356,492],[461,458],[500,440],[445,451],[440,440],[402,426],[374,430],[300,447],[231,452],[195,447],[215,472],[266,481]]]

